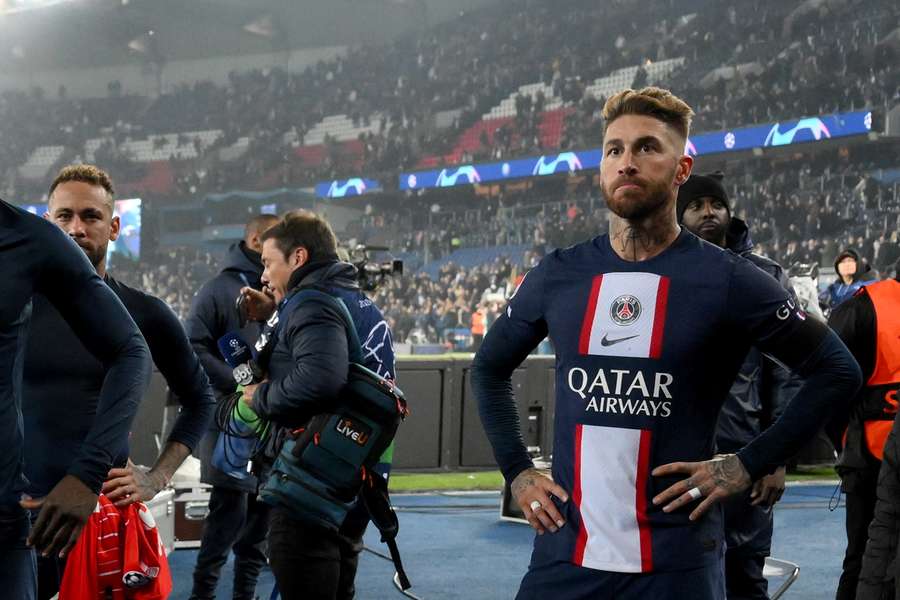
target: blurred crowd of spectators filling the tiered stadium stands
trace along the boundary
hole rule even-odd
[[[651,9],[639,12],[625,1],[600,6],[572,0],[568,5],[566,10],[524,2],[488,7],[477,14],[483,27],[457,19],[386,45],[350,48],[300,73],[279,68],[234,72],[225,86],[200,81],[154,99],[130,95],[117,82],[109,84],[106,97],[94,99],[70,98],[62,87],[55,95],[41,89],[4,93],[0,135],[8,143],[0,148],[0,170],[6,175],[5,197],[43,192],[18,169],[34,148],[62,146],[60,164],[84,160],[85,143],[98,132],[104,141],[92,150],[93,161],[127,184],[139,180],[146,165],[129,155],[126,141],[154,133],[222,130],[212,142],[179,135],[179,146],[192,145],[198,157],[171,156],[174,186],[168,201],[361,172],[395,176],[427,156],[445,162],[462,133],[484,113],[519,86],[536,82],[549,86],[551,97],[519,94],[515,118],[495,130],[483,129],[479,147],[456,159],[544,150],[540,119],[556,101],[567,111],[559,146],[589,147],[600,137],[604,101],[586,93],[590,83],[615,69],[677,57],[685,62],[667,84],[695,107],[693,130],[698,132],[900,101],[896,49],[884,40],[897,21],[895,3],[823,3],[806,9],[797,1],[654,0]],[[611,18],[616,15],[624,18]],[[588,30],[592,35],[571,35]],[[720,68],[726,66],[739,68]],[[648,71],[640,68],[631,85],[639,87],[647,78]],[[439,129],[433,122],[442,111],[453,118]],[[324,117],[341,113],[355,125],[374,125],[361,134],[359,154],[326,139],[320,162],[299,158],[308,132]],[[241,138],[247,138],[246,152],[224,159],[222,151]],[[807,161],[800,171],[790,162],[752,161],[727,173],[726,184],[737,214],[752,223],[763,254],[785,265],[830,265],[842,249],[852,247],[884,270],[900,254],[900,198],[896,184],[881,183],[871,173],[894,167],[890,156],[858,156],[856,151],[837,161],[833,155]],[[155,205],[166,203],[164,197]],[[606,227],[602,200],[589,185],[573,191],[505,192],[475,208],[442,204],[418,214],[376,206],[347,235],[367,241],[389,230],[393,250],[436,260],[484,246],[540,254]],[[517,269],[512,265],[522,263],[520,256],[510,258],[469,272],[445,266],[436,280],[422,274],[392,280],[379,293],[398,337],[434,340],[441,330],[469,326],[486,291],[503,285]],[[184,316],[193,291],[215,263],[215,257],[199,250],[151,247],[129,268],[131,273],[120,271]],[[441,300],[426,301],[431,297]]]

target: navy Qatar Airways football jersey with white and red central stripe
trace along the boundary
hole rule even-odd
[[[532,566],[568,561],[642,573],[719,560],[721,509],[666,514],[652,498],[681,477],[660,465],[713,456],[716,419],[751,345],[805,320],[771,276],[682,231],[658,256],[622,260],[607,235],[532,269],[482,352],[556,349],[553,479],[568,525],[537,536]],[[503,465],[501,465],[503,466]]]

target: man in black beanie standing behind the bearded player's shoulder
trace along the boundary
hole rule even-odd
[[[719,172],[691,175],[678,191],[679,223],[697,237],[746,258],[775,278],[799,302],[781,266],[753,253],[747,224],[731,216],[723,179]],[[781,414],[800,384],[787,369],[751,349],[719,414],[717,451],[733,452],[759,435]],[[784,482],[782,466],[746,493],[723,503],[728,598],[768,598],[762,571],[772,545],[772,507],[784,492]]]

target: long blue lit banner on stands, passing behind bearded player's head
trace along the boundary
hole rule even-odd
[[[751,148],[786,146],[869,133],[872,113],[857,111],[794,121],[754,125],[731,131],[701,133],[688,139],[685,153],[691,156],[734,152]],[[400,190],[424,190],[473,183],[489,183],[555,173],[574,173],[600,166],[602,151],[561,152],[538,157],[476,165],[454,165],[432,171],[400,174]],[[337,183],[337,182],[335,182]],[[323,184],[320,184],[323,185]],[[316,190],[318,192],[318,187]]]

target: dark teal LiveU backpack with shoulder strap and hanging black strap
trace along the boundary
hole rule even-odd
[[[287,315],[300,302],[318,302],[344,322],[350,367],[347,384],[333,412],[314,416],[303,427],[285,431],[271,474],[260,491],[267,504],[291,511],[299,520],[332,531],[362,501],[381,533],[404,590],[410,587],[396,545],[399,529],[387,481],[374,466],[390,453],[397,428],[409,411],[394,383],[363,366],[363,352],[350,311],[342,300],[318,289],[302,289],[279,311],[269,346],[277,341]]]

